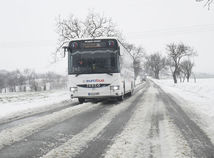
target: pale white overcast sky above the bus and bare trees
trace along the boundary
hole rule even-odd
[[[195,0],[1,0],[0,69],[65,72],[65,62],[50,64],[55,19],[84,18],[92,9],[112,17],[126,40],[148,54],[165,54],[172,42],[192,46],[198,52],[194,71],[214,74],[214,5],[207,10]]]

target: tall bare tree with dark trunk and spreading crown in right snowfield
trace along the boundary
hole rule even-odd
[[[166,50],[168,53],[169,58],[171,59],[171,70],[172,70],[172,76],[174,83],[177,83],[177,76],[179,75],[180,72],[180,62],[183,57],[187,56],[194,56],[196,53],[194,50],[189,47],[184,45],[183,43],[180,44],[175,44],[171,43],[166,46]]]

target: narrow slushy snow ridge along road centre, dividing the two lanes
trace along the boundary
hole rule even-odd
[[[141,94],[137,94],[136,96],[133,96],[122,102],[118,106],[112,107],[103,117],[99,118],[93,124],[84,129],[81,133],[75,135],[72,139],[68,140],[63,145],[51,150],[49,153],[44,155],[43,158],[76,157],[89,145],[89,142],[93,141],[95,138],[100,138],[101,133],[105,127],[107,127],[117,115],[127,110],[139,95],[141,96]]]

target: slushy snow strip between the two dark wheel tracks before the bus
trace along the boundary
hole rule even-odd
[[[32,135],[33,133],[38,132],[42,128],[45,128],[46,126],[62,122],[79,113],[97,108],[99,105],[100,104],[89,103],[81,104],[79,106],[74,106],[59,112],[54,112],[52,114],[40,117],[29,123],[25,123],[24,125],[5,129],[0,132],[0,149],[2,149],[4,146],[11,145],[14,142],[26,138]]]

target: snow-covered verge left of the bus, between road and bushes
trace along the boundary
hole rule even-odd
[[[17,113],[24,114],[32,111],[41,111],[44,108],[50,109],[53,108],[52,104],[69,100],[67,89],[43,92],[0,93],[0,120],[5,116],[12,117]]]

